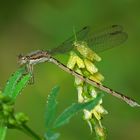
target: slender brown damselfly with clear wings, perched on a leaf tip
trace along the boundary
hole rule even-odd
[[[127,39],[127,33],[123,31],[123,28],[120,25],[112,25],[96,33],[92,33],[89,27],[84,27],[82,30],[76,33],[76,38],[78,41],[87,42],[89,47],[92,48],[95,52],[101,52],[123,43]],[[80,75],[79,73],[68,68],[66,65],[62,64],[53,57],[53,55],[56,53],[66,53],[74,49],[75,47],[74,41],[75,37],[72,36],[66,41],[64,41],[60,46],[52,50],[48,51],[38,50],[30,54],[27,54],[26,56],[19,55],[19,63],[20,65],[25,64],[27,66],[28,72],[30,73],[33,72],[33,66],[35,64],[42,62],[54,63],[64,71],[68,72],[69,74],[78,77],[83,81],[95,86],[96,88],[123,100],[130,106],[140,107],[140,105],[135,100],[121,93],[118,93],[102,84],[99,84],[89,78],[86,78],[85,76]]]

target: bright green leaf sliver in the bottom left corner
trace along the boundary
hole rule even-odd
[[[4,126],[3,121],[0,121],[0,140],[5,140],[7,127]]]

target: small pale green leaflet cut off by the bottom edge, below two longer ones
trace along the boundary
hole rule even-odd
[[[45,139],[46,140],[57,140],[60,137],[59,133],[53,133],[52,131],[48,131],[45,134]]]

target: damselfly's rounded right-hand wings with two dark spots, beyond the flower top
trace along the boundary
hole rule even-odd
[[[85,41],[95,52],[102,52],[122,44],[128,35],[120,25],[112,25],[96,33],[89,34]]]

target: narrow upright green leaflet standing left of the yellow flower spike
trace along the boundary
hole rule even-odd
[[[45,126],[47,129],[51,128],[52,122],[56,114],[57,101],[56,97],[58,95],[59,87],[56,86],[52,89],[48,95],[46,112],[45,112]]]

